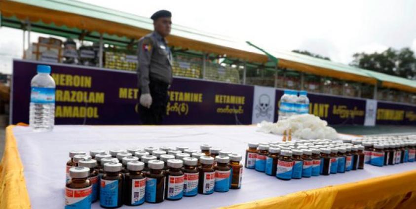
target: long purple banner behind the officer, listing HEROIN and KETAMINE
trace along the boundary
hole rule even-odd
[[[37,62],[13,62],[11,123],[29,122]],[[56,83],[55,124],[139,123],[135,72],[46,64]],[[165,124],[251,124],[253,86],[174,78]]]

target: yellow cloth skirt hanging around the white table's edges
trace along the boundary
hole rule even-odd
[[[13,127],[6,128],[4,155],[0,163],[0,209],[28,209],[30,208],[29,194],[16,139],[13,136]],[[416,209],[416,170],[301,191],[224,208]]]

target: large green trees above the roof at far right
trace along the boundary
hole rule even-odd
[[[416,79],[416,58],[410,48],[388,48],[378,53],[355,53],[350,65],[408,79]]]

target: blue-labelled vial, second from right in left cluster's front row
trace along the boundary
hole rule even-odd
[[[227,156],[217,156],[215,157],[217,165],[215,169],[215,185],[214,191],[216,192],[227,192],[229,190],[229,176],[230,170],[229,167],[229,157]]]

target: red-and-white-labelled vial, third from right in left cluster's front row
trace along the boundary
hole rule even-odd
[[[201,162],[201,166],[198,167],[198,193],[210,195],[214,193],[215,185],[214,158],[211,156],[202,156],[199,158],[199,162]]]

